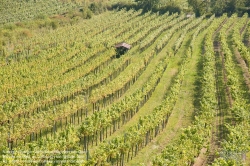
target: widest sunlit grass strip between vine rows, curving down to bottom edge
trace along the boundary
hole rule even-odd
[[[181,46],[176,56],[173,57],[173,59],[171,59],[173,62],[169,65],[170,71],[178,70],[176,68],[178,66],[176,60],[181,59],[181,56],[185,54],[187,46],[190,42],[189,40],[191,34],[192,33],[190,33],[186,37],[186,39],[183,42],[183,45]],[[200,37],[197,38],[196,40],[197,47],[200,47],[199,45],[197,45],[197,43],[200,44],[202,43],[201,41],[204,34],[205,33],[202,33]],[[175,108],[170,116],[166,128],[152,142],[150,142],[147,145],[147,147],[143,148],[139,152],[139,154],[135,158],[133,158],[127,165],[136,166],[141,163],[143,163],[144,165],[152,165],[152,160],[155,157],[155,155],[159,154],[168,143],[174,141],[175,139],[178,139],[182,131],[181,128],[191,124],[193,119],[193,113],[195,110],[194,95],[196,89],[197,72],[199,70],[198,60],[200,52],[201,52],[200,49],[195,50],[194,54],[191,57],[191,60],[188,65],[189,66],[188,70],[186,71],[185,74],[185,79],[183,81],[179,99],[176,102]],[[171,75],[171,72],[167,72],[165,74],[169,76]],[[164,75],[162,80],[165,79],[166,78]]]

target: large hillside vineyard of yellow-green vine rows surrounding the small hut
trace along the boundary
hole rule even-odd
[[[13,1],[27,4],[18,11],[6,2],[0,12],[14,16],[1,15],[1,25],[33,19],[32,5],[45,3]],[[38,15],[77,6],[46,5]],[[249,25],[247,14],[114,10],[9,38],[0,163],[249,165]],[[120,42],[132,47],[118,58]]]

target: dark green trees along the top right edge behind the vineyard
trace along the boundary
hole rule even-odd
[[[159,12],[186,12],[195,13],[196,16],[204,14],[221,16],[223,13],[232,15],[238,13],[250,14],[250,0],[134,0],[122,1],[117,7],[137,8],[147,11]]]

